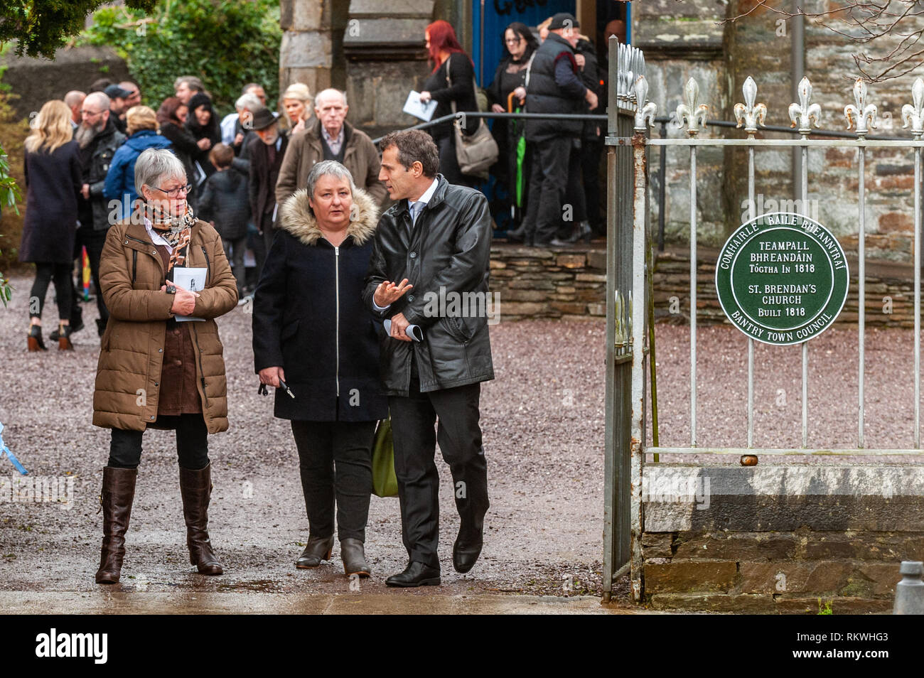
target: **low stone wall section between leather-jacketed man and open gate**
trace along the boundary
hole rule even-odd
[[[491,248],[491,291],[504,321],[606,316],[605,248]]]

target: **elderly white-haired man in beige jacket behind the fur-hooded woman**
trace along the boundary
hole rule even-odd
[[[379,151],[368,134],[346,122],[348,110],[344,92],[318,92],[314,98],[317,122],[289,139],[276,182],[277,204],[285,202],[298,188],[305,188],[311,168],[322,160],[346,165],[356,185],[364,188],[376,204],[383,203],[386,191],[379,181]]]

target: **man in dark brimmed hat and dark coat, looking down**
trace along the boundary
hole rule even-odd
[[[286,130],[279,128],[278,118],[266,106],[253,110],[251,114],[249,127],[253,130],[253,139],[247,142],[247,155],[250,159],[250,213],[253,216],[253,224],[260,231],[260,236],[254,238],[253,243],[257,280],[260,280],[266,252],[273,244],[276,181],[289,139]],[[241,124],[247,127],[248,122]]]

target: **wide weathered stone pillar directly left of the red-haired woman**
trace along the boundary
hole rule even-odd
[[[420,121],[401,112],[427,77],[433,0],[350,0],[343,46],[349,121],[373,138]]]

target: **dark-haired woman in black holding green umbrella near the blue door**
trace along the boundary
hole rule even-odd
[[[504,31],[504,55],[494,72],[494,80],[487,89],[488,103],[491,104],[493,113],[513,113],[517,108],[523,108],[526,102],[526,74],[532,55],[538,48],[539,41],[526,24],[514,21],[507,26]],[[513,106],[507,111],[511,93],[514,95]],[[525,212],[526,188],[529,184],[529,158],[524,157],[521,164],[517,162],[517,141],[523,135],[523,121],[495,120],[492,134],[500,151],[497,163],[492,167],[492,175],[497,183],[506,189],[505,208],[511,214],[511,221],[519,224]],[[519,182],[519,200],[517,174],[526,177]]]

